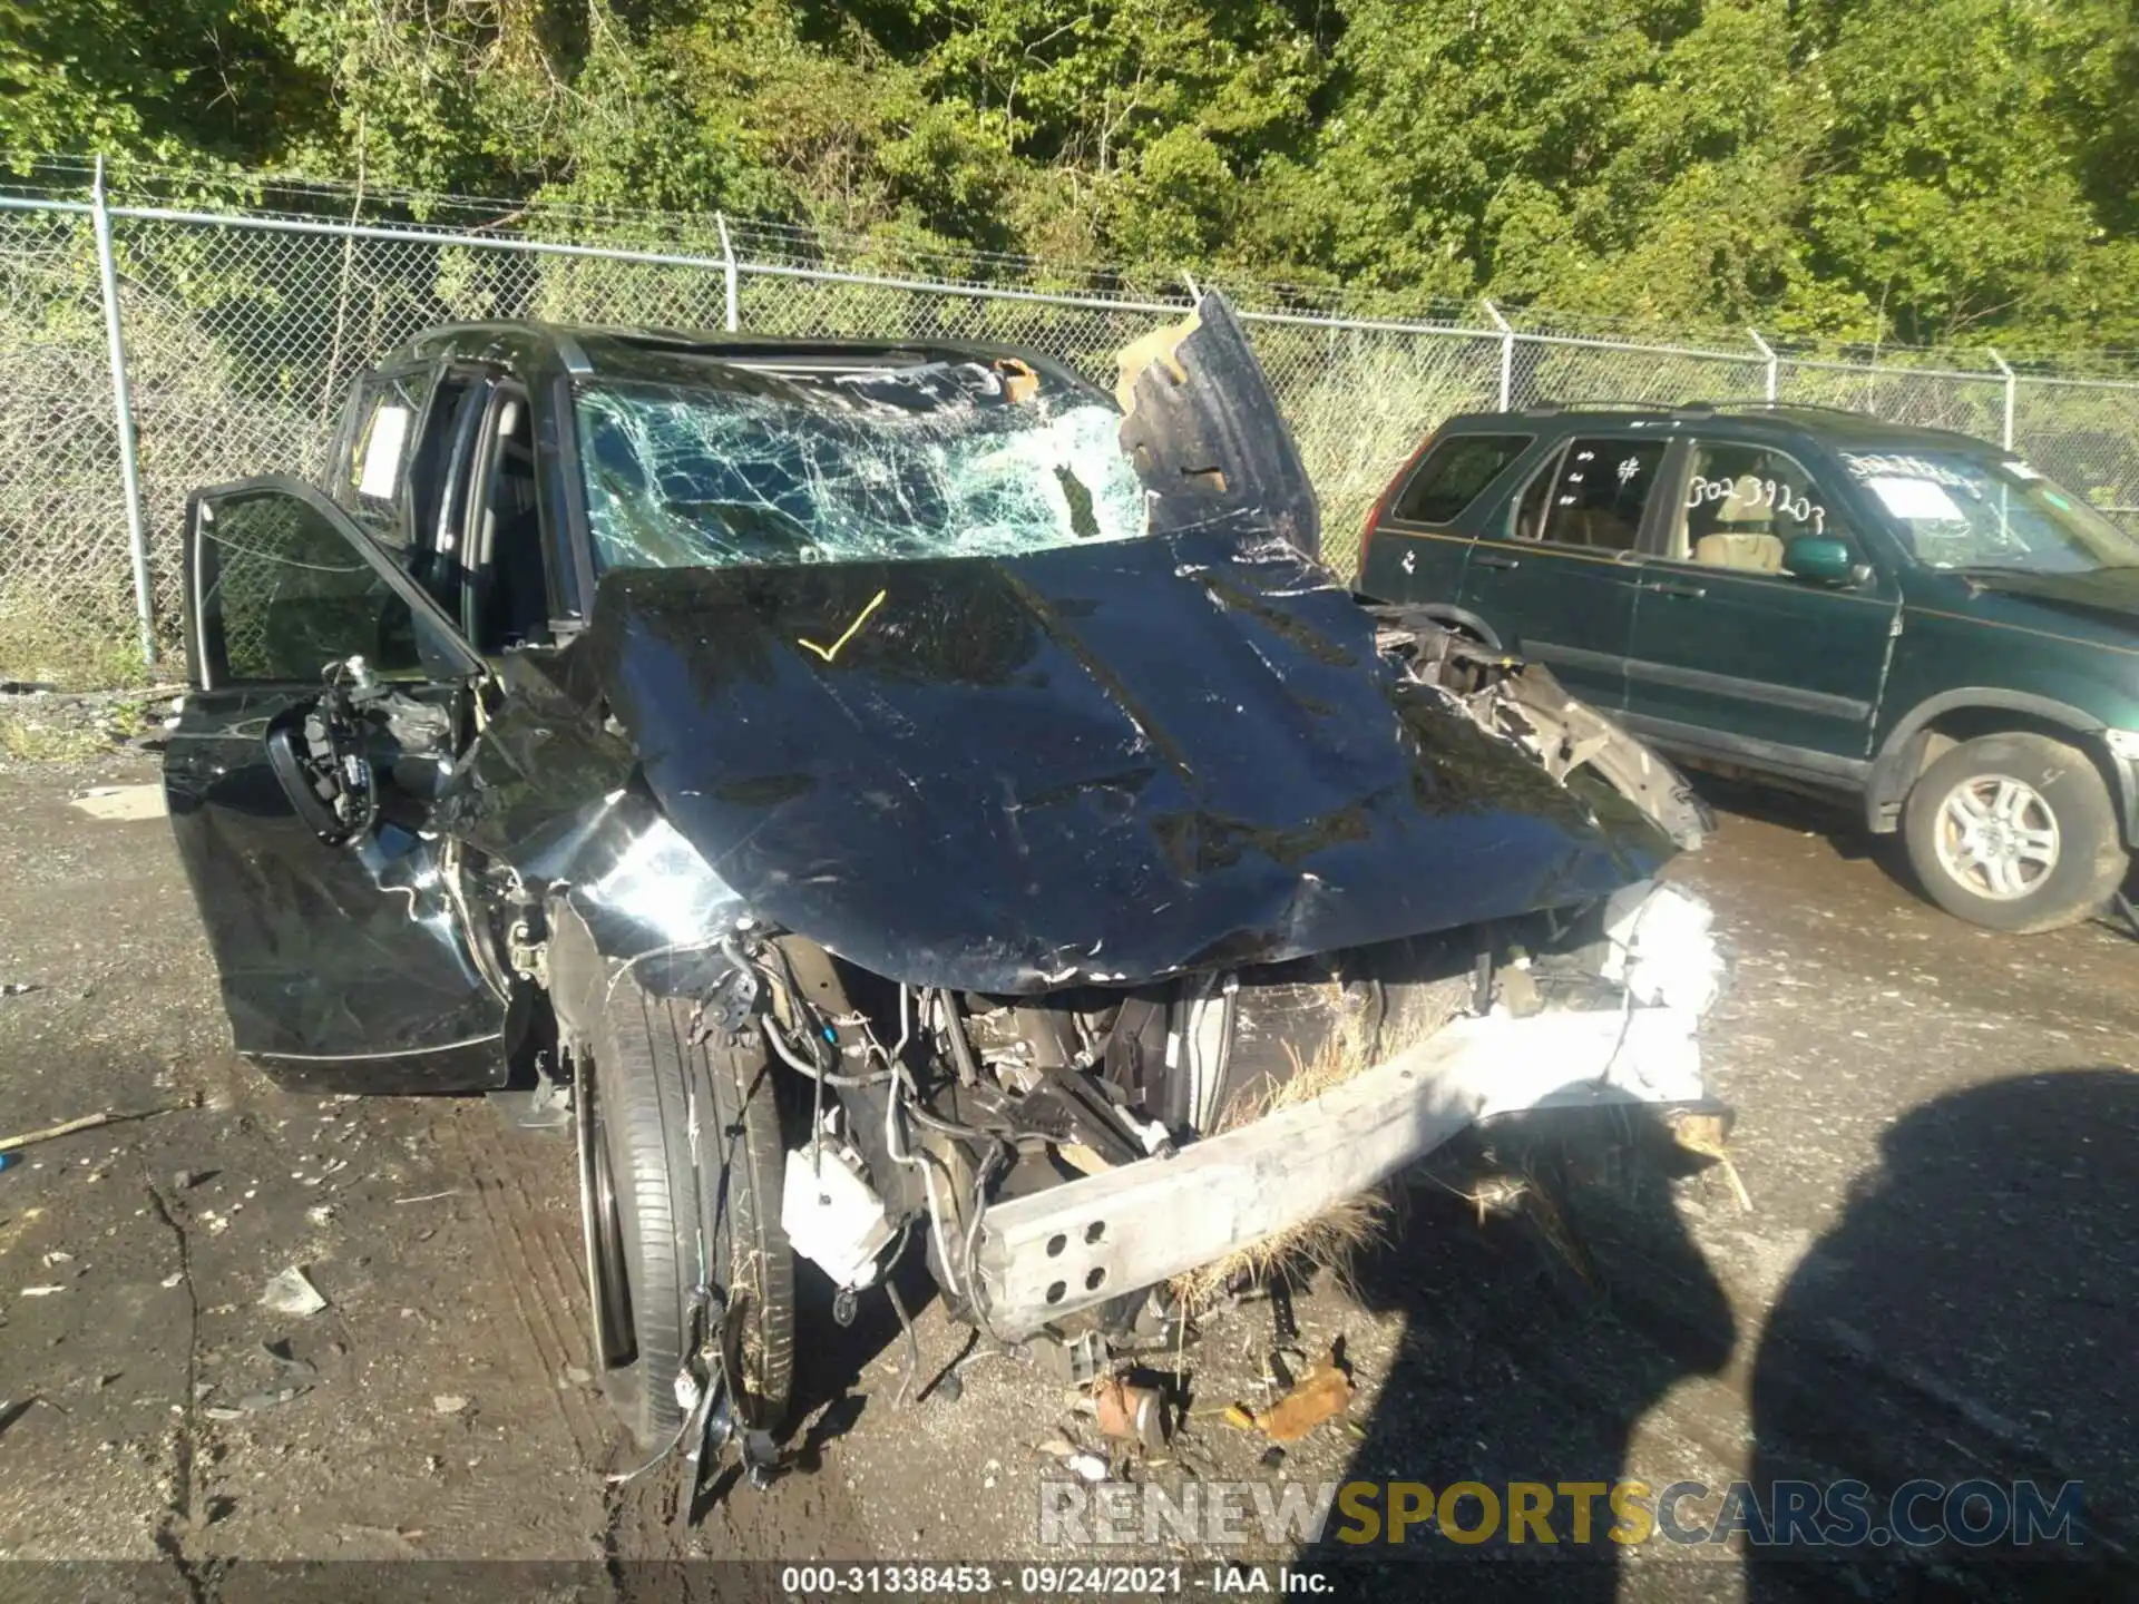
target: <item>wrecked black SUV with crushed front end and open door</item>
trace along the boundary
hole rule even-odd
[[[1320,567],[1217,297],[1117,396],[441,329],[321,483],[188,518],[167,789],[235,1046],[554,1110],[650,1446],[770,1454],[798,1260],[845,1313],[924,1251],[1089,1367],[1478,1121],[1703,1106],[1707,911],[1651,881],[1698,804]]]

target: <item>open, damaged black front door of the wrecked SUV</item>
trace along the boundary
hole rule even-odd
[[[237,1050],[336,1091],[503,1084],[507,982],[424,830],[481,661],[295,479],[193,498],[186,633],[165,791]]]

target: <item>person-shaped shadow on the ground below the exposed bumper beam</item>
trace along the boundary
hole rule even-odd
[[[1694,1163],[1647,1110],[1499,1121],[1435,1161],[1407,1193],[1401,1232],[1354,1270],[1369,1309],[1403,1313],[1405,1339],[1339,1480],[1422,1482],[1442,1518],[1472,1529],[1482,1503],[1440,1499],[1480,1482],[1502,1501],[1497,1529],[1465,1544],[1414,1525],[1399,1546],[1384,1525],[1356,1542],[1339,1506],[1301,1566],[1333,1570],[1363,1598],[1617,1595],[1604,1489],[1628,1474],[1630,1433],[1679,1379],[1722,1371],[1737,1337],[1673,1200],[1671,1176]],[[1476,1196],[1480,1176],[1536,1185],[1523,1206],[1480,1217],[1457,1196]],[[1555,1491],[1553,1544],[1536,1531],[1508,1542],[1514,1482]],[[1598,1491],[1587,1542],[1579,1499],[1559,1495],[1568,1484]]]

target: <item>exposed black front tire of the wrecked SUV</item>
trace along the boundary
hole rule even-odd
[[[684,1418],[676,1375],[697,1335],[699,1243],[710,1245],[717,1285],[749,1298],[744,1352],[759,1362],[747,1379],[761,1416],[776,1420],[785,1409],[794,1367],[794,1258],[781,1230],[785,1151],[772,1076],[749,1050],[691,1046],[691,1016],[693,1003],[652,997],[627,977],[593,1044],[593,1140],[614,1196],[614,1221],[599,1221],[595,1236],[616,1258],[631,1320],[603,1390],[648,1450],[667,1444]]]

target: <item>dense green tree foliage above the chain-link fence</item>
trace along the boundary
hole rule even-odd
[[[2139,344],[2130,0],[0,0],[0,150]]]

